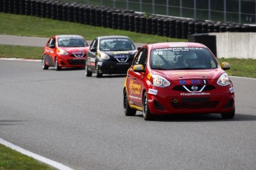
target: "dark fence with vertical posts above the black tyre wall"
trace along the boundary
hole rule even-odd
[[[67,1],[67,0],[66,0]],[[142,13],[255,24],[255,0],[69,0]]]

